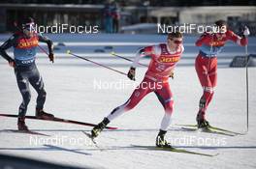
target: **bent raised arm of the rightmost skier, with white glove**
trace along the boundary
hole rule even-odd
[[[245,27],[244,27],[244,30],[243,30],[243,32],[242,32],[242,36],[241,36],[241,37],[238,36],[238,35],[236,35],[233,31],[228,30],[228,31],[227,31],[227,38],[228,38],[229,40],[233,41],[233,42],[238,43],[239,45],[244,46],[244,45],[248,44],[248,38],[247,38],[247,36],[248,36],[249,34],[250,34],[250,33],[249,33],[249,29],[245,26]]]

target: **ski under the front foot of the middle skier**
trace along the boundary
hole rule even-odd
[[[180,153],[180,154],[190,154],[190,155],[204,155],[204,156],[216,156],[219,154],[215,155],[208,155],[208,154],[203,154],[203,153],[198,153],[198,152],[192,152],[192,151],[187,151],[184,149],[177,149],[174,147],[170,148],[159,148],[156,146],[139,146],[139,145],[132,145],[134,148],[140,148],[140,149],[145,149],[145,150],[153,150],[153,151],[168,151],[168,152],[174,152],[174,153]]]

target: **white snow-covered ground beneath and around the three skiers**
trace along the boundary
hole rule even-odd
[[[0,40],[8,36],[1,36]],[[53,40],[57,41],[54,37]],[[85,42],[151,42],[155,36],[144,36],[138,40],[130,36],[116,35],[116,38],[102,35],[86,39]],[[140,40],[139,40],[140,39]],[[192,39],[192,38],[191,38]],[[64,42],[65,38],[63,38]],[[163,41],[164,37],[154,42]],[[195,38],[193,39],[195,40]],[[191,40],[191,42],[193,42]],[[252,39],[249,53],[255,53],[255,39]],[[189,39],[190,41],[190,39]],[[80,42],[80,39],[74,40]],[[191,43],[188,42],[188,43]],[[85,44],[84,44],[85,45]],[[140,46],[114,46],[116,53],[124,53],[132,58],[132,53]],[[85,48],[88,46],[84,46]],[[97,47],[82,49],[73,46],[74,53],[85,56],[93,54]],[[186,44],[185,44],[186,47]],[[69,46],[66,46],[69,48]],[[71,47],[72,48],[72,47]],[[99,47],[98,48],[104,48]],[[105,130],[96,139],[100,148],[95,147],[82,133],[91,127],[80,127],[54,122],[27,120],[30,129],[48,134],[38,136],[7,132],[16,129],[16,119],[0,119],[0,154],[19,155],[54,163],[69,164],[90,168],[255,168],[256,162],[256,69],[249,68],[249,132],[245,135],[223,136],[217,134],[184,131],[176,124],[195,124],[198,101],[202,94],[196,72],[193,67],[194,53],[197,48],[188,45],[183,61],[177,66],[175,79],[170,84],[175,97],[173,125],[167,138],[180,149],[215,155],[186,155],[164,151],[152,151],[135,148],[133,145],[154,146],[160,125],[163,108],[154,94],[149,94],[140,104],[110,126],[117,130]],[[65,49],[56,51],[56,61],[52,65],[42,55],[37,60],[38,68],[45,80],[48,92],[45,110],[56,117],[99,123],[114,107],[126,101],[133,85],[144,76],[145,68],[137,70],[137,82],[111,70],[92,66],[77,58],[64,57]],[[242,54],[244,48],[230,43],[219,59],[218,85],[215,96],[208,107],[208,120],[212,126],[244,132],[246,130],[245,70],[231,69],[228,63],[232,53]],[[229,56],[230,54],[230,56]],[[90,54],[88,54],[90,56]],[[94,53],[91,59],[117,70],[127,72],[129,63],[108,56],[108,53]],[[144,59],[144,63],[148,60]],[[21,96],[16,87],[13,70],[0,59],[0,113],[16,114]],[[102,89],[100,88],[102,84]],[[114,87],[115,86],[115,87]],[[32,99],[27,115],[34,115],[36,93],[31,88]]]

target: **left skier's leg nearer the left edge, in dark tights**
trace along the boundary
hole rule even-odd
[[[17,128],[18,130],[27,130],[28,128],[25,124],[25,115],[27,111],[27,105],[31,99],[29,83],[26,76],[26,71],[15,70],[15,72],[17,86],[20,94],[22,95],[22,102],[18,108]]]

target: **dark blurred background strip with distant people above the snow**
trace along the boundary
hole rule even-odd
[[[235,32],[247,25],[256,34],[254,0],[3,0],[0,9],[0,33],[14,31],[14,21],[32,16],[39,25],[98,25],[110,34],[155,34],[156,23],[208,25],[224,19]]]

